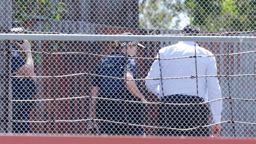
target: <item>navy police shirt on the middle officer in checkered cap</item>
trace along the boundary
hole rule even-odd
[[[125,72],[132,72],[134,79],[138,77],[136,61],[134,59],[125,59],[126,54],[121,52],[112,52],[109,56],[122,57],[104,57],[96,66],[95,74],[115,78],[124,78]],[[103,96],[124,98],[124,93],[126,91],[128,93],[128,98],[135,98],[135,96],[132,96],[132,94],[126,90],[124,80],[115,78],[95,76],[92,85],[99,87],[101,90],[101,95]],[[141,91],[140,81],[136,80],[135,82]]]

